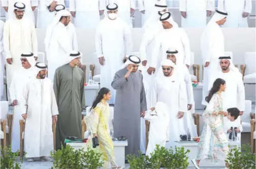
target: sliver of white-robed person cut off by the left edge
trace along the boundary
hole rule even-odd
[[[5,22],[0,20],[0,61],[1,61],[1,101],[4,99],[4,72],[5,72],[5,57],[4,57],[4,42],[3,42],[3,35],[4,35],[4,25]]]

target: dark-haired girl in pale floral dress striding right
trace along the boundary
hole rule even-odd
[[[205,98],[207,106],[203,113],[204,128],[200,137],[196,159],[192,162],[196,168],[199,168],[199,162],[203,159],[210,159],[213,162],[217,160],[226,160],[229,153],[228,139],[225,134],[223,117],[227,112],[222,111],[221,92],[225,91],[225,80],[217,78],[209,95]],[[228,168],[229,163],[226,163]]]

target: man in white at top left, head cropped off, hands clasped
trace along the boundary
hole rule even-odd
[[[47,26],[52,23],[55,17],[54,8],[57,5],[65,6],[65,1],[39,1],[37,14],[37,28],[47,28]]]

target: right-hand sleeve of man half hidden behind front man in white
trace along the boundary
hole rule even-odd
[[[185,83],[186,83],[186,91],[187,91],[187,104],[193,104],[194,94],[193,94],[193,86],[191,83],[191,75],[186,66],[184,67],[184,73],[185,73]]]

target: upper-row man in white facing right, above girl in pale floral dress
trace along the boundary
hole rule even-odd
[[[202,105],[207,105],[208,83],[211,73],[219,65],[219,56],[225,53],[224,35],[220,28],[226,22],[227,13],[216,11],[201,36],[201,52],[204,65]]]

